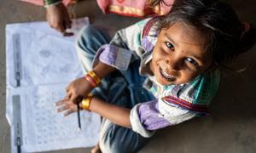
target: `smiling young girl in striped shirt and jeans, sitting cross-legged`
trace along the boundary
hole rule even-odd
[[[255,29],[217,0],[178,0],[164,16],[108,37],[86,26],[77,40],[84,77],[57,102],[103,117],[99,148],[137,152],[156,129],[207,115],[218,90],[218,67],[246,52]],[[93,93],[94,96],[89,95]]]

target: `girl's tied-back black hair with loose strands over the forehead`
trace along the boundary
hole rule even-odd
[[[204,37],[204,47],[216,65],[224,65],[246,52],[256,42],[256,31],[245,26],[235,11],[218,0],[176,0],[169,14],[157,18],[156,28],[169,28],[183,22]]]

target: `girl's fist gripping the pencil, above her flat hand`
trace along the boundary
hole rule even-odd
[[[66,99],[69,99],[73,104],[77,104],[86,97],[92,90],[90,83],[84,77],[80,77],[71,82],[67,88]]]

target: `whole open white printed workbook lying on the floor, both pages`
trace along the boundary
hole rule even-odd
[[[88,18],[73,20],[73,31]],[[20,87],[16,87],[14,35],[20,37]],[[11,126],[12,152],[15,146],[13,95],[20,95],[22,152],[89,147],[98,141],[100,116],[81,111],[82,130],[77,114],[64,117],[55,112],[55,102],[65,95],[68,82],[82,75],[74,48],[74,37],[62,37],[46,22],[6,26],[7,101],[6,116]]]

